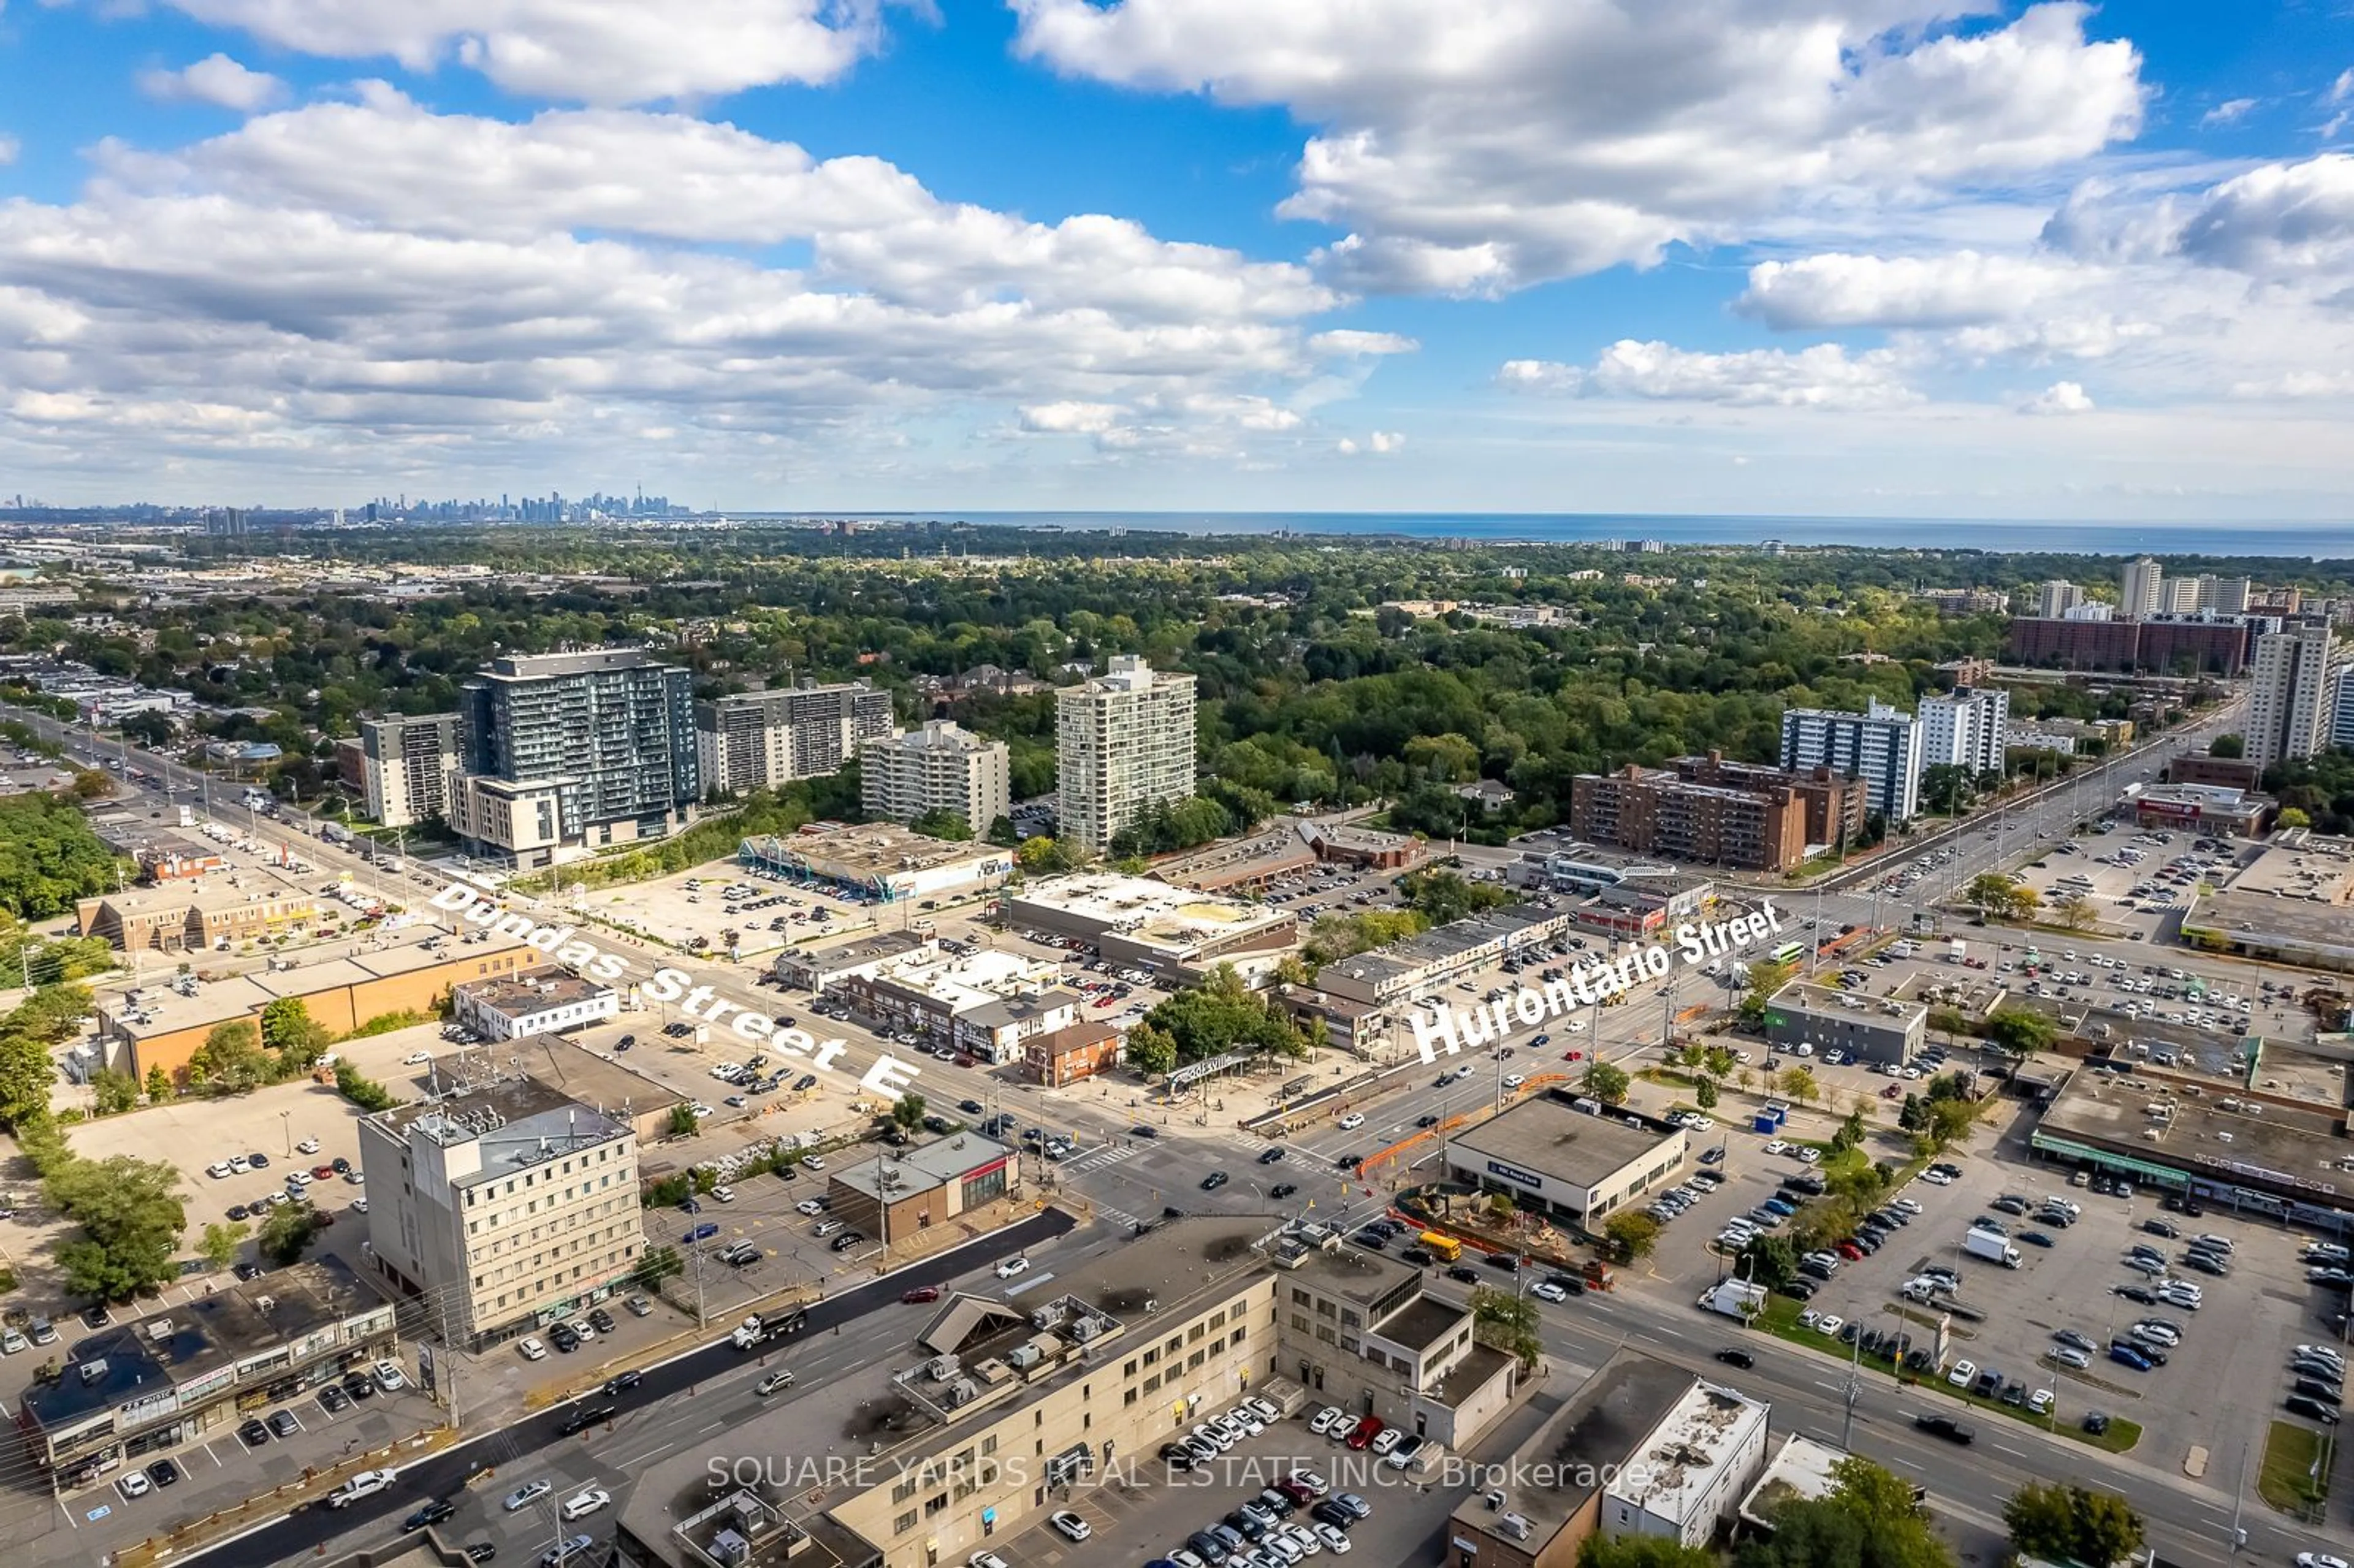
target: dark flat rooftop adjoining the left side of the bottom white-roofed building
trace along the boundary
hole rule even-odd
[[[1507,1469],[1516,1481],[1504,1488],[1504,1507],[1490,1511],[1471,1493],[1457,1504],[1455,1523],[1509,1535],[1504,1521],[1518,1516],[1528,1521],[1521,1544],[1537,1556],[1601,1490],[1603,1469],[1636,1460],[1636,1446],[1657,1431],[1695,1382],[1678,1366],[1638,1351],[1615,1354],[1511,1455]]]

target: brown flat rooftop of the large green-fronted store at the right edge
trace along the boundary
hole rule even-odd
[[[2269,1048],[2267,1057],[2272,1055],[2290,1052]],[[2154,1165],[2217,1180],[2232,1180],[2234,1172],[2269,1172],[2295,1182],[2328,1182],[2328,1175],[2319,1175],[2326,1165],[2354,1158],[2354,1140],[2338,1132],[2347,1104],[2345,1064],[2338,1064],[2335,1076],[2330,1095],[2316,1099],[2312,1109],[2262,1099],[2250,1114],[2227,1109],[2248,1104],[2232,1085],[2201,1083],[2147,1064],[2130,1074],[2081,1069],[2043,1111],[2039,1135],[2104,1144]],[[2260,1067],[2262,1078],[2288,1083]],[[2265,1090],[2265,1095],[2279,1092]]]

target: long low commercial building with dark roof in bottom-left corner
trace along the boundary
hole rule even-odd
[[[320,1255],[75,1340],[64,1375],[19,1396],[16,1431],[71,1493],[226,1434],[245,1406],[339,1382],[395,1344],[393,1302]]]

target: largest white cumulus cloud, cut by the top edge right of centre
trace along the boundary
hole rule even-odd
[[[1283,212],[1344,287],[1499,294],[1676,242],[2041,177],[2142,122],[2088,7],[1951,0],[1012,0],[1017,49],[1314,125]]]

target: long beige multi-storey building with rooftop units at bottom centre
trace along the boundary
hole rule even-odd
[[[1328,1389],[1363,1380],[1375,1415],[1434,1436],[1438,1422],[1417,1424],[1417,1408],[1438,1410],[1438,1389],[1474,1363],[1502,1361],[1490,1382],[1511,1382],[1518,1363],[1457,1344],[1455,1330],[1417,1356],[1417,1373],[1401,1375],[1387,1349],[1370,1358],[1363,1337],[1344,1354],[1342,1304],[1379,1330],[1417,1311],[1419,1271],[1302,1245],[1278,1227],[1271,1215],[1175,1220],[1151,1245],[949,1297],[920,1318],[909,1354],[803,1380],[718,1450],[758,1457],[786,1486],[744,1486],[732,1467],[711,1467],[711,1448],[650,1460],[617,1521],[621,1559],[640,1568],[963,1563],[1071,1507],[1106,1462],[1125,1469],[1245,1394],[1281,1401],[1302,1356],[1332,1363]],[[1295,1283],[1332,1302],[1330,1344],[1314,1333],[1302,1344],[1288,1326]],[[1306,1316],[1325,1321],[1314,1307]],[[873,1333],[890,1328],[876,1318]],[[1424,1337],[1419,1318],[1401,1326],[1401,1344]],[[1438,1382],[1401,1391],[1415,1375]],[[878,1420],[883,1410],[890,1420]],[[1459,1422],[1450,1446],[1483,1429]]]

